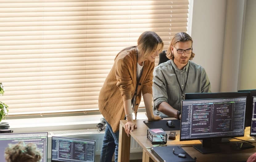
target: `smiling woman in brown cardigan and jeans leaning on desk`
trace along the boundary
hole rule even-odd
[[[137,128],[133,122],[143,95],[147,118],[160,120],[153,114],[152,84],[155,57],[163,50],[163,41],[152,31],[146,31],[138,38],[138,45],[124,48],[114,60],[99,94],[99,110],[107,126],[101,151],[101,162],[111,162],[115,153],[118,160],[119,122],[126,119],[125,132]],[[130,148],[129,148],[130,149]]]

